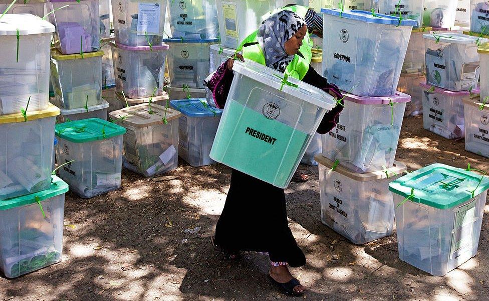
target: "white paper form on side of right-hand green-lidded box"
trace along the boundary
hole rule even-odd
[[[456,209],[450,256],[454,252],[464,247],[472,247],[472,232],[473,224],[475,222],[476,205],[477,200],[474,198],[470,201],[470,203],[462,205]]]

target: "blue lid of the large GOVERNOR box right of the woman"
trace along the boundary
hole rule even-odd
[[[399,17],[383,15],[383,14],[375,14],[373,15],[371,12],[366,11],[341,11],[340,9],[321,9],[321,13],[332,15],[332,16],[340,16],[345,19],[358,20],[366,23],[374,23],[374,24],[384,24],[384,25],[395,25],[395,26],[417,26],[418,22],[416,20],[411,19],[399,19]],[[399,22],[400,20],[400,22]]]

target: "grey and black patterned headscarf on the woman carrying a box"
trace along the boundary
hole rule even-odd
[[[294,36],[304,25],[304,20],[291,11],[281,11],[270,16],[258,28],[257,41],[265,52],[265,62],[280,72],[294,58],[285,52],[285,42]]]

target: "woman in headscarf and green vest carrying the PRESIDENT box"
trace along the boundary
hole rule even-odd
[[[261,63],[341,99],[339,89],[310,66],[312,43],[304,43],[309,41],[309,35],[301,12],[305,16],[308,9],[286,7],[270,16],[258,31],[241,43],[237,50],[241,54],[236,55],[242,61],[250,59]],[[227,61],[229,69],[233,62],[231,59]],[[343,101],[326,113],[317,132],[325,134],[333,129],[342,109]],[[271,260],[269,274],[273,281],[288,295],[304,294],[305,287],[287,267],[306,264],[306,257],[288,225],[284,189],[232,170],[213,245],[228,259],[238,259],[240,251],[268,253]]]

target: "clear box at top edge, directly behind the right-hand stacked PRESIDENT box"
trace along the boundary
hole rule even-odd
[[[424,0],[423,24],[433,28],[453,27],[458,2],[460,0]]]

